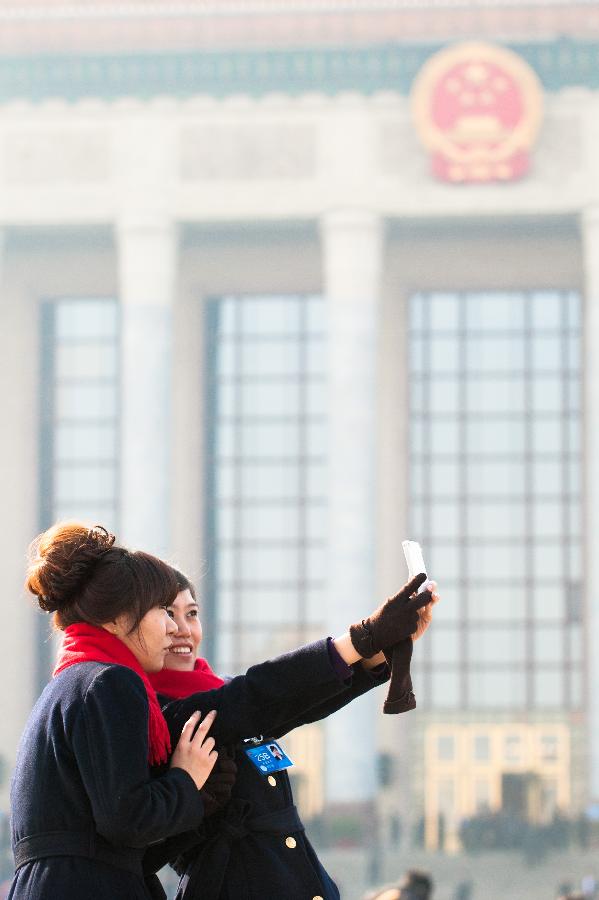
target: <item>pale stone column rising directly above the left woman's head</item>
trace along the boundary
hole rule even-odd
[[[176,234],[168,220],[117,229],[121,325],[121,535],[170,546],[172,303]]]

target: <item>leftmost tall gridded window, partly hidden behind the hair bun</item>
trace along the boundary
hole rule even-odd
[[[118,304],[45,301],[40,334],[40,530],[76,519],[118,531]],[[47,617],[39,629],[41,688],[52,667]]]

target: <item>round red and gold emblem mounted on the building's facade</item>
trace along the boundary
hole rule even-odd
[[[432,56],[412,89],[416,129],[442,181],[513,181],[529,169],[543,92],[517,54],[459,44]]]

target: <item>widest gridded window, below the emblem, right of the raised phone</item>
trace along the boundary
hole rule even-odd
[[[411,535],[443,585],[429,706],[573,709],[580,637],[580,297],[416,294]]]

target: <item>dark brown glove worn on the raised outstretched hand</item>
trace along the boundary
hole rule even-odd
[[[415,594],[425,581],[424,573],[416,575],[394,597],[385,600],[371,616],[350,625],[351,642],[360,656],[370,659],[405,638],[409,637],[411,640],[418,628],[418,610],[432,599],[430,591]]]

